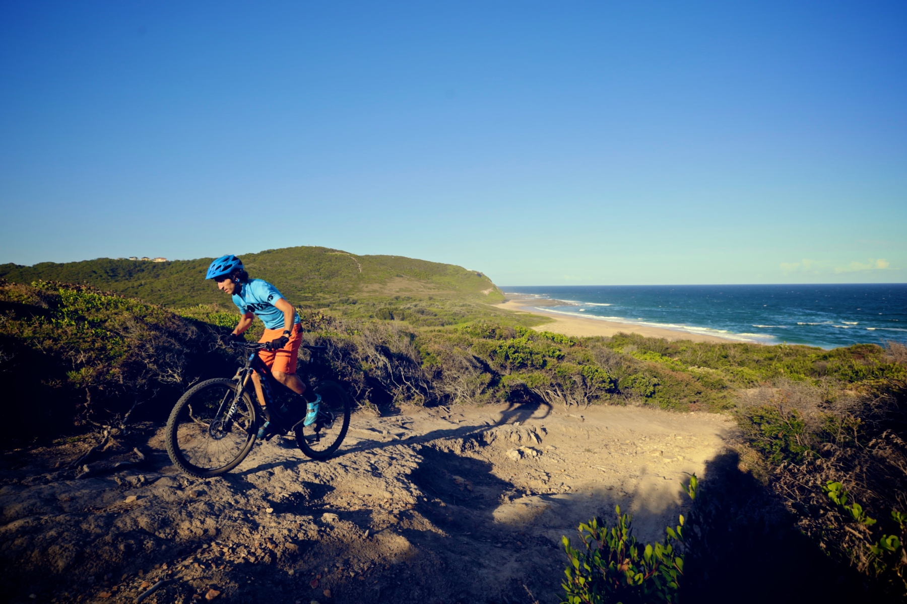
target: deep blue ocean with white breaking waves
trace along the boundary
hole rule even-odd
[[[547,312],[824,349],[907,342],[907,283],[502,287]]]

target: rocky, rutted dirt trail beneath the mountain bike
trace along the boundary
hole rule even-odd
[[[154,453],[111,475],[48,469],[88,444],[11,452],[0,600],[132,602],[168,579],[144,601],[557,602],[561,535],[619,503],[640,538],[660,538],[684,473],[701,475],[732,429],[707,414],[571,409],[359,412],[328,462],[277,437],[208,480],[179,475],[151,426],[114,439],[112,453]]]

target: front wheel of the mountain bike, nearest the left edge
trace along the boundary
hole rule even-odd
[[[230,414],[236,388],[232,379],[208,379],[173,407],[164,442],[173,464],[186,474],[208,478],[229,472],[255,445],[255,406],[248,392]]]

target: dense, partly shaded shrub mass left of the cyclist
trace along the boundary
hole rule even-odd
[[[11,400],[5,436],[152,417],[201,376],[224,369],[222,330],[88,286],[0,284],[0,361]]]

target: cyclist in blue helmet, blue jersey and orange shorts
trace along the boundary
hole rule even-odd
[[[296,375],[297,353],[302,343],[302,326],[296,309],[278,292],[278,288],[261,279],[249,279],[242,261],[232,254],[220,256],[212,262],[205,279],[213,279],[221,292],[231,295],[242,315],[239,325],[230,334],[231,339],[245,340],[242,334],[249,329],[256,316],[265,324],[265,333],[258,340],[265,343],[265,348],[258,350],[258,357],[270,368],[274,379],[306,399],[306,418],[303,422],[310,426],[318,415],[321,396],[316,395],[314,399],[307,397],[306,384]],[[258,390],[261,384],[257,372],[252,373],[252,379]],[[265,436],[270,424],[267,409],[265,417],[268,421],[259,430],[259,438]]]

